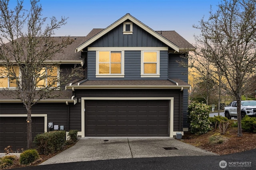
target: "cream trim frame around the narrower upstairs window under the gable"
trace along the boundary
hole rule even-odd
[[[144,74],[144,52],[156,52],[156,74]],[[140,77],[141,78],[147,78],[147,77],[152,77],[152,78],[159,78],[160,77],[160,51],[141,51],[140,55]]]

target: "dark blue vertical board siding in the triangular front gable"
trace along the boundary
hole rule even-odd
[[[167,47],[167,45],[133,23],[131,35],[124,35],[123,24],[120,24],[88,47]]]

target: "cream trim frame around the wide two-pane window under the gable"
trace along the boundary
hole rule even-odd
[[[108,50],[105,50],[108,51]],[[115,50],[109,51],[113,52]],[[124,78],[124,51],[121,51],[121,74],[99,74],[99,51],[96,51],[96,78]]]

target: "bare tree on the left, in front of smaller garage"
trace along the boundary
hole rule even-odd
[[[9,0],[0,1],[0,76],[9,80],[9,86],[2,84],[2,87],[4,90],[14,87],[12,97],[26,107],[28,149],[32,147],[32,106],[59,88],[59,72],[51,59],[72,43],[69,37],[58,40],[52,37],[54,30],[66,24],[67,18],[58,21],[52,17],[47,24],[38,2],[31,0],[30,10],[25,10],[23,0],[17,1],[11,10]]]

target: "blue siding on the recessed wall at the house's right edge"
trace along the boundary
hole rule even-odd
[[[179,78],[184,82],[188,82],[188,68],[180,66],[177,61],[184,61],[188,64],[188,60],[185,60],[180,57],[180,54],[169,54],[169,68],[168,68],[168,77],[172,78]],[[184,90],[183,92],[183,124],[184,128],[188,128],[188,90]]]

